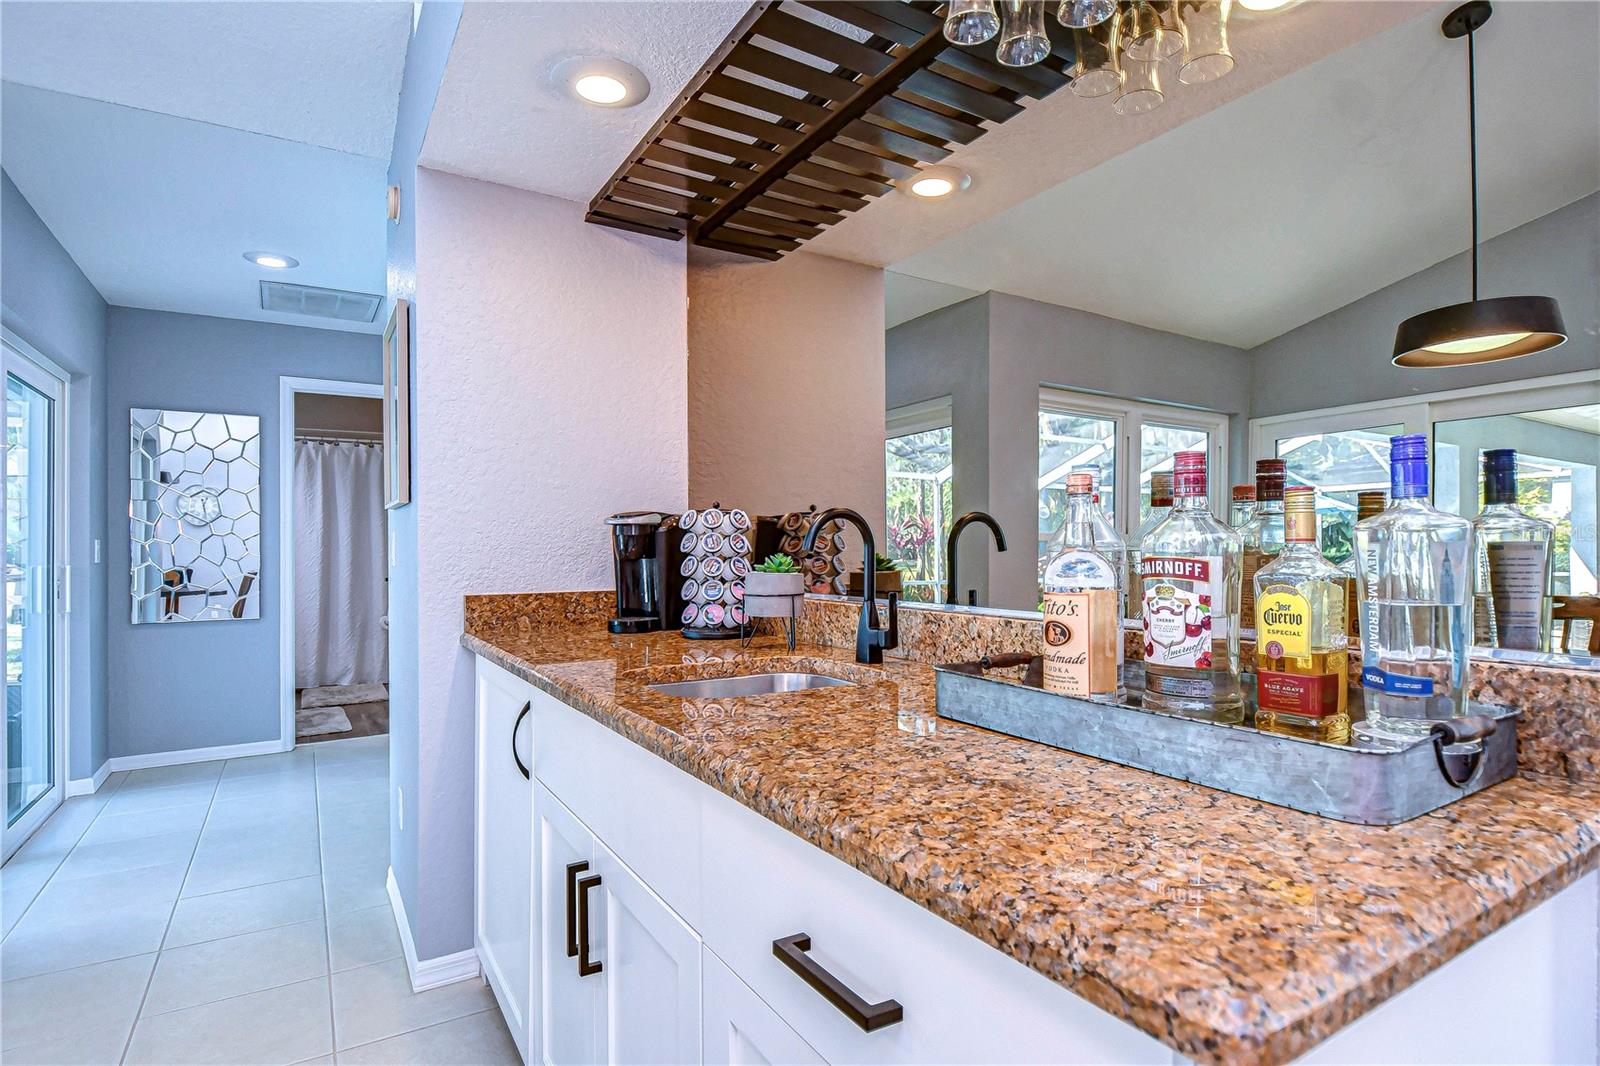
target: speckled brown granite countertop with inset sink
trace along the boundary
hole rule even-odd
[[[933,671],[603,624],[483,655],[1102,1010],[1203,1061],[1278,1063],[1579,879],[1600,783],[1523,773],[1403,826],[1328,821],[934,719]],[[752,659],[850,677],[685,701]]]

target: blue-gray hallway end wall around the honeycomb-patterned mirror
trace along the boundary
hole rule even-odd
[[[134,626],[128,530],[109,530],[109,754],[275,741],[278,703],[278,378],[382,381],[376,335],[112,307],[106,317],[109,469],[128,469],[128,411],[155,407],[261,418],[261,618]],[[106,482],[128,512],[126,477]]]

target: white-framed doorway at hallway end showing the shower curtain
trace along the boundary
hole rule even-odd
[[[283,379],[283,735],[389,733],[382,389]]]

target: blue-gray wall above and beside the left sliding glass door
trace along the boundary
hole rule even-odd
[[[67,392],[67,776],[93,776],[109,755],[106,720],[106,301],[0,171],[0,320],[72,375]],[[126,469],[126,467],[125,467]],[[125,501],[126,506],[126,501]],[[104,555],[102,555],[104,559]]]

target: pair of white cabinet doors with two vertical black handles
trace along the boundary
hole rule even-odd
[[[698,1063],[699,938],[542,784],[541,1056]]]

